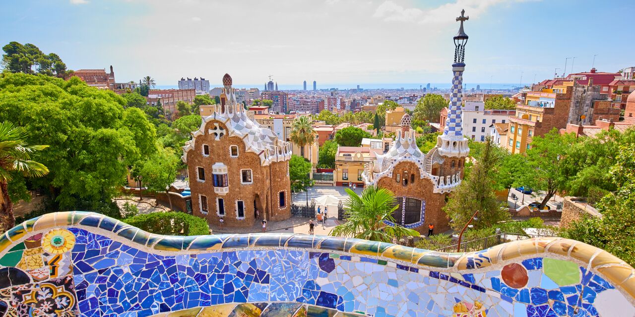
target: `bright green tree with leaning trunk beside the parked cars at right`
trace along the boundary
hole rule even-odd
[[[545,191],[545,198],[539,209],[556,195],[556,191],[565,190],[568,186],[568,150],[577,142],[574,134],[560,134],[556,128],[542,137],[535,136],[531,141],[531,148],[525,152],[526,168],[521,173],[518,183],[533,190]]]

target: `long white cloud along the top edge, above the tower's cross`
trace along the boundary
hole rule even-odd
[[[495,4],[523,2],[526,0],[456,0],[436,8],[421,10],[418,8],[404,8],[392,0],[386,0],[375,10],[373,17],[384,21],[416,22],[416,23],[452,23],[461,10],[465,15],[478,16]]]

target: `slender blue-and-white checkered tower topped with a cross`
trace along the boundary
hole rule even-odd
[[[457,35],[454,37],[454,63],[452,64],[452,93],[450,105],[448,106],[448,119],[445,122],[443,134],[437,138],[439,154],[447,157],[465,157],[469,152],[467,139],[463,136],[461,118],[461,99],[463,97],[463,71],[465,70],[465,44],[467,34],[463,30],[463,22],[468,20],[465,10],[461,11],[461,16],[457,21],[461,22]]]

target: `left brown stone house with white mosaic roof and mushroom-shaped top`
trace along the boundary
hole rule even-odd
[[[291,216],[291,146],[247,116],[228,74],[220,105],[184,146],[192,212],[211,224],[249,228]],[[256,213],[258,210],[258,214]]]

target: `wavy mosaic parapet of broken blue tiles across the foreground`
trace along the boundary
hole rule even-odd
[[[354,238],[162,236],[57,212],[0,236],[0,316],[635,316],[635,271],[536,238],[440,253]]]

